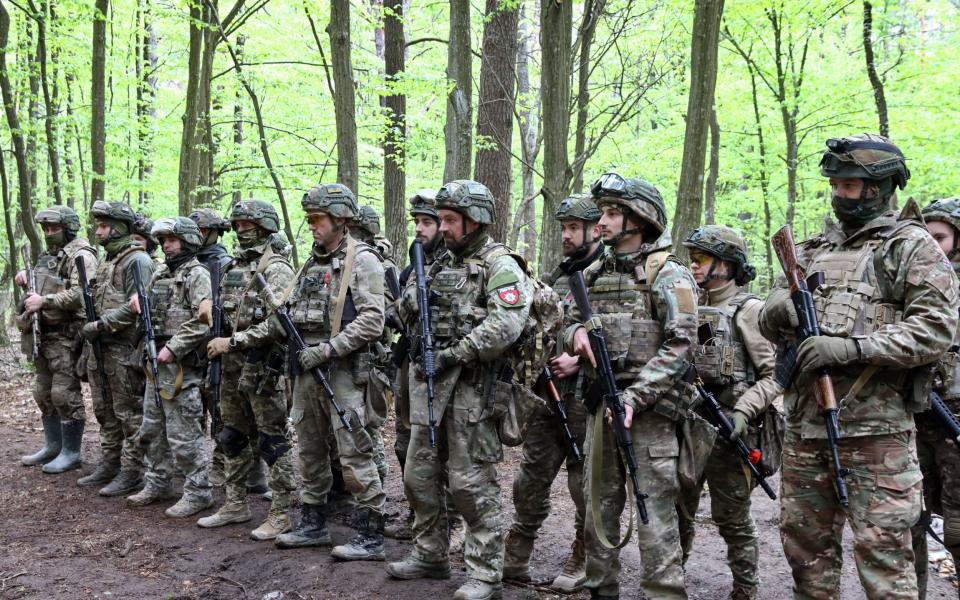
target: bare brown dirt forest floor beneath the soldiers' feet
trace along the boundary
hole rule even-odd
[[[319,598],[447,598],[465,578],[462,557],[454,560],[450,581],[394,581],[382,563],[335,563],[323,549],[277,550],[271,543],[248,538],[266,515],[268,503],[255,497],[250,523],[203,530],[195,519],[176,521],[164,516],[166,504],[127,508],[123,499],[102,498],[96,488],[75,485],[80,472],[45,475],[39,468],[20,466],[18,458],[38,447],[42,438],[39,413],[30,394],[33,377],[22,366],[16,346],[0,347],[0,600],[43,598],[164,598],[176,600],[250,599],[304,600]],[[97,425],[87,402],[84,471],[97,454]],[[391,427],[388,426],[388,432]],[[392,435],[388,433],[388,446]],[[406,510],[399,469],[392,452],[387,481],[388,512]],[[500,465],[504,506],[512,515],[510,483],[519,463],[517,449],[508,449]],[[775,484],[776,485],[776,484]],[[222,502],[221,490],[216,493]],[[553,485],[555,510],[547,520],[532,560],[535,581],[542,585],[508,585],[504,597],[562,598],[549,584],[566,560],[573,537],[573,505],[566,492],[565,472]],[[710,521],[704,497],[697,515],[696,549],[687,565],[691,598],[726,598],[730,576],[725,546]],[[209,511],[208,511],[209,512]],[[207,514],[207,513],[204,513]],[[780,546],[778,508],[760,490],[753,514],[760,530],[762,583],[760,598],[791,597],[791,577]],[[509,522],[508,516],[508,522]],[[350,530],[342,520],[331,527],[334,542]],[[408,542],[387,541],[388,560],[403,558]],[[863,598],[850,551],[844,544],[844,599]],[[623,598],[643,597],[638,591],[639,554],[631,544],[622,553]],[[950,577],[932,572],[930,598],[956,598]],[[579,593],[570,598],[587,598]]]

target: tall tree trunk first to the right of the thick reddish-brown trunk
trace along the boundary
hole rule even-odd
[[[560,262],[560,228],[554,214],[570,190],[567,187],[567,135],[570,131],[570,43],[572,2],[543,2],[540,6],[541,74],[543,102],[543,216],[540,225],[540,271]]]

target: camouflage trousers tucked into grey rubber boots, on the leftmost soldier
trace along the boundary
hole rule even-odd
[[[86,420],[76,371],[79,358],[80,349],[74,338],[54,334],[41,337],[33,399],[42,416],[56,416],[62,421]]]

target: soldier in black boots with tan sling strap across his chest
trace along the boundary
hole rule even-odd
[[[300,445],[303,478],[300,524],[280,535],[280,548],[330,545],[326,527],[330,491],[330,449],[337,440],[348,490],[359,505],[358,532],[331,552],[340,560],[383,560],[385,496],[373,461],[373,443],[365,429],[365,387],[372,365],[370,346],[383,333],[383,266],[376,253],[350,236],[347,223],[357,216],[353,192],[340,184],[314,186],[301,201],[313,233],[313,250],[286,300],[291,317],[310,346],[295,361],[290,419]],[[209,345],[212,355],[249,350],[284,339],[271,317],[230,338]],[[330,399],[309,371],[322,368],[350,423],[348,432]]]

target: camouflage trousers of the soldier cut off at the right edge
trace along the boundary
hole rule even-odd
[[[943,517],[943,541],[953,556],[954,564],[960,564],[960,453],[929,414],[918,414],[916,420],[925,517],[929,518],[930,513]],[[913,526],[911,534],[916,556],[917,597],[922,600],[927,596],[930,573],[927,533],[923,521]]]

